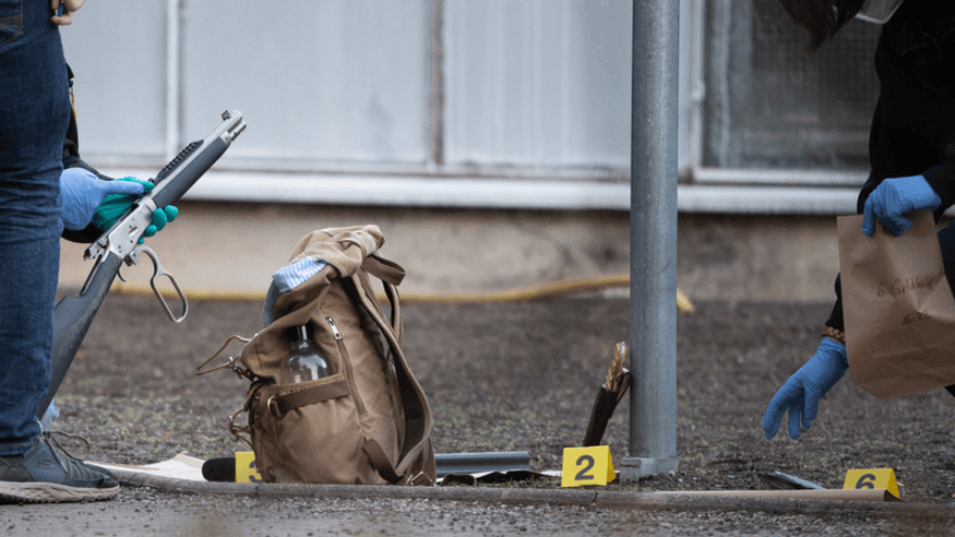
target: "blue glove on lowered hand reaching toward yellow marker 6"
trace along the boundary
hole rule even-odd
[[[849,369],[845,345],[823,337],[819,349],[799,371],[782,384],[769,400],[763,415],[763,432],[772,439],[782,423],[782,414],[789,411],[789,436],[799,439],[799,422],[810,429],[819,413],[819,398],[826,395]]]

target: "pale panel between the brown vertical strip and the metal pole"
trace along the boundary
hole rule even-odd
[[[447,0],[449,164],[629,166],[631,2]]]

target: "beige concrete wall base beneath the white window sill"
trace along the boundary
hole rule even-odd
[[[629,273],[629,216],[547,212],[182,203],[147,244],[191,295],[264,296],[270,274],[316,229],[375,223],[405,267],[406,295],[492,293]],[[835,217],[679,216],[678,286],[690,299],[830,301]],[[82,284],[85,246],[63,243],[61,286]],[[144,291],[150,268],[125,269]],[[620,280],[620,279],[617,279]],[[624,283],[616,294],[626,295]]]

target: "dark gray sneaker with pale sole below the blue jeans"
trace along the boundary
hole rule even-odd
[[[23,456],[0,457],[0,500],[105,500],[118,491],[119,483],[110,472],[66,453],[49,433],[43,433]]]

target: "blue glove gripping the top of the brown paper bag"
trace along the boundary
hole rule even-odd
[[[876,218],[895,236],[912,229],[912,220],[905,213],[917,209],[939,208],[942,199],[922,176],[886,179],[866,199],[863,209],[862,232],[871,236]]]

